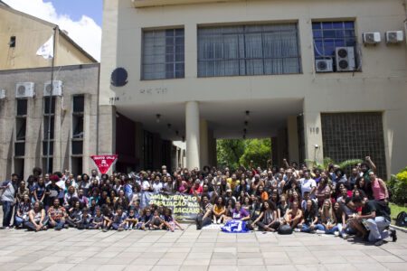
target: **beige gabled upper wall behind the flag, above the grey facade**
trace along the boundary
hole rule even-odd
[[[37,56],[36,51],[52,33],[52,23],[0,6],[0,70],[51,66],[51,60]],[[8,45],[11,36],[16,37],[14,48]],[[55,66],[94,62],[62,35],[56,40]]]

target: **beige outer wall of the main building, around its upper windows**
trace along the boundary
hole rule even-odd
[[[243,1],[217,4],[166,5],[135,8],[131,1],[105,0],[101,55],[101,105],[119,97],[121,106],[159,106],[188,100],[226,101],[304,99],[306,155],[323,157],[320,112],[383,112],[388,172],[405,166],[407,136],[406,45],[360,46],[362,72],[316,74],[314,71],[312,20],[355,19],[357,41],[362,33],[402,30],[406,11],[398,0],[369,1]],[[302,73],[276,76],[197,78],[197,26],[211,23],[298,22]],[[185,79],[140,80],[143,28],[185,27]],[[128,70],[128,84],[109,84],[116,67]],[[140,89],[166,88],[160,96],[142,95]],[[230,91],[233,89],[233,95]],[[271,90],[271,91],[270,91]],[[318,127],[319,133],[310,128]],[[315,145],[319,145],[317,152]]]

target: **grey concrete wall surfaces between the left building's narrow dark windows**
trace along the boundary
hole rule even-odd
[[[93,168],[90,155],[97,153],[98,76],[99,64],[56,67],[54,79],[62,80],[62,97],[56,98],[53,170],[62,171],[71,167],[72,96],[84,94],[83,168]],[[0,101],[0,179],[14,172],[15,141],[15,84],[31,81],[35,83],[36,95],[28,98],[25,137],[24,177],[32,173],[34,166],[43,164],[43,88],[50,80],[49,68],[0,71],[0,89],[6,89],[5,100]]]

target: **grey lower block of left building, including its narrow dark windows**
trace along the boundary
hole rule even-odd
[[[0,70],[0,89],[6,92],[0,99],[1,180],[11,173],[26,178],[34,166],[46,173],[49,117],[50,171],[89,173],[94,168],[90,155],[98,153],[99,63],[55,67],[51,110],[50,75],[51,68]],[[35,95],[29,88],[22,95],[16,87],[21,82],[30,82]]]

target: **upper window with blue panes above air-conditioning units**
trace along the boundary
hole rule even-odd
[[[352,21],[313,22],[312,33],[316,60],[335,60],[337,47],[355,48],[356,45],[355,22]],[[332,63],[336,70],[336,61]]]

